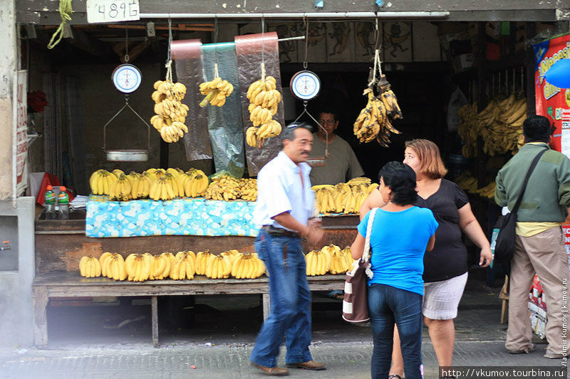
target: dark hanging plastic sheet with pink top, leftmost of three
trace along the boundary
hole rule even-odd
[[[199,107],[202,95],[199,84],[204,81],[202,65],[202,41],[181,40],[173,41],[170,46],[172,60],[175,60],[176,78],[186,86],[186,96],[182,102],[190,110],[186,117],[188,132],[184,134],[186,159],[212,159],[212,146],[208,135],[207,110]]]

